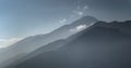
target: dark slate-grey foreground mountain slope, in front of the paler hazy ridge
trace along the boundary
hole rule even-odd
[[[129,27],[129,21],[98,22],[32,52],[9,68],[131,68],[131,31],[124,31]]]

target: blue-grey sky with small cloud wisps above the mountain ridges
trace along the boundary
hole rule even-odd
[[[131,0],[0,0],[0,39],[47,33],[85,14],[131,19]]]

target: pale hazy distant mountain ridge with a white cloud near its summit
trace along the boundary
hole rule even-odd
[[[94,17],[84,16],[70,25],[64,25],[64,26],[56,29],[55,31],[52,31],[50,33],[27,37],[16,43],[12,44],[11,46],[4,49],[4,51],[0,53],[0,58],[1,58],[0,63],[7,62],[8,59],[16,57],[21,54],[26,55],[26,54],[35,51],[36,49],[44,46],[50,42],[53,42],[56,40],[68,38],[78,32],[78,31],[74,32],[74,31],[70,31],[70,30],[76,30],[76,27],[79,27],[79,29],[81,29],[81,28],[83,28],[83,25],[85,28],[96,22],[97,22],[97,19]],[[24,56],[24,55],[21,55],[21,56]]]

